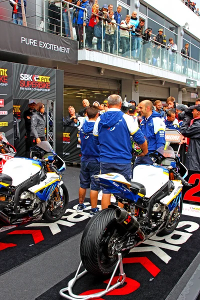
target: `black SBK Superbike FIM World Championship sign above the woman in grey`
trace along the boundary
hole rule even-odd
[[[13,63],[13,98],[54,99],[55,69]]]

